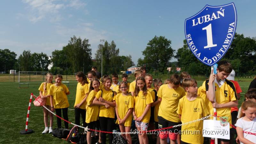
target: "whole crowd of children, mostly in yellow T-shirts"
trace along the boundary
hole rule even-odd
[[[127,82],[127,74],[123,74],[122,82],[118,81],[117,74],[112,74],[111,77],[105,75],[101,82],[99,73],[96,74],[95,69],[97,71],[96,67],[92,67],[87,73],[88,77],[83,72],[76,73],[78,84],[74,105],[75,123],[80,125],[81,115],[83,126],[88,127],[88,144],[92,143],[93,129],[112,132],[116,123],[121,132],[130,132],[133,121],[139,131],[140,144],[148,144],[147,130],[171,127],[213,115],[213,108],[216,108],[218,116],[227,117],[230,124],[236,123],[237,142],[256,143],[255,135],[244,133],[244,131],[256,133],[256,89],[246,92],[246,101],[238,111],[238,99],[242,91],[239,84],[234,79],[230,79],[230,75],[232,77],[234,74],[228,61],[220,61],[217,74],[211,71],[209,79],[199,88],[196,80],[191,79],[187,72],[182,72],[180,76],[173,74],[163,84],[162,80],[153,79],[152,75],[146,73],[146,68],[142,68],[134,72],[135,80],[130,83]],[[68,120],[67,95],[70,92],[67,86],[61,83],[61,75],[56,75],[55,84],[52,83],[52,79],[52,74],[48,73],[46,82],[39,87],[40,96],[46,99],[47,108],[51,107],[58,116],[61,116],[62,110],[63,118]],[[237,111],[239,119],[236,121],[234,117],[237,116]],[[50,115],[50,128],[48,128],[48,115]],[[52,132],[52,122],[53,116],[44,109],[43,134]],[[68,128],[68,123],[64,123],[65,128]],[[61,120],[58,117],[57,127],[61,127]],[[167,139],[170,140],[170,144],[202,144],[204,143],[202,129],[203,121],[197,121],[160,130],[156,135],[151,134],[151,136],[156,138],[157,144],[166,144]],[[126,133],[122,136],[128,144],[132,144],[130,134]],[[108,133],[109,144],[112,140],[113,134]],[[225,139],[220,141],[222,144],[230,142]],[[106,133],[100,132],[97,143],[106,143]]]

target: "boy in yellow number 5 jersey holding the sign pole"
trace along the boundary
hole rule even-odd
[[[210,78],[204,81],[201,90],[206,92],[211,115],[213,115],[213,108],[216,108],[217,116],[223,117],[230,124],[232,124],[231,108],[238,106],[235,85],[226,79],[231,71],[232,66],[228,61],[220,61],[217,74],[213,74],[212,70]],[[215,82],[215,95],[213,82]],[[216,99],[215,102],[214,98]],[[220,118],[217,117],[217,120],[220,120]],[[232,127],[230,126],[230,128]],[[220,141],[221,144],[229,144],[229,140],[220,139]]]

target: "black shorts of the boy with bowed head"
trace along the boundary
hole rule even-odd
[[[176,123],[176,122],[168,121],[168,120],[164,119],[161,116],[157,116],[157,118],[158,118],[158,127],[159,127],[159,129],[181,124],[181,122]],[[167,129],[165,129],[164,131],[166,131],[166,130]],[[170,129],[168,129],[168,131],[178,133],[178,132],[181,131],[181,126],[170,128]]]

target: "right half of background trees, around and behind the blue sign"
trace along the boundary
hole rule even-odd
[[[256,73],[255,40],[255,37],[244,37],[243,34],[236,33],[228,52],[222,58],[228,60],[240,76]],[[171,72],[177,73],[176,67],[180,67],[181,71],[187,71],[191,75],[210,73],[210,67],[200,62],[190,51],[186,39],[183,40],[183,46],[175,52],[171,47],[171,40],[164,36],[155,36],[148,42],[142,55],[144,59],[138,59],[138,66],[146,66],[149,71],[166,73],[167,67],[172,67]],[[177,62],[170,62],[173,58]]]

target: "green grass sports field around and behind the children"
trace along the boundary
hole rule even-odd
[[[129,81],[132,82],[131,79]],[[0,121],[2,133],[0,143],[67,143],[65,140],[55,138],[51,134],[42,134],[44,130],[43,108],[35,107],[34,104],[31,104],[28,129],[35,132],[27,135],[20,134],[20,130],[24,130],[26,126],[30,94],[33,92],[35,95],[39,95],[38,88],[41,83],[29,82],[29,88],[19,88],[17,82],[0,82],[0,108],[3,112]],[[203,81],[198,81],[199,86],[202,83]],[[68,95],[68,101],[71,109],[74,109],[76,84],[76,81],[70,81],[69,83],[70,95]],[[247,91],[250,82],[239,82],[239,84],[243,90],[239,100],[240,106],[244,100],[243,93]],[[75,123],[74,110],[68,110],[68,117],[70,122]],[[62,126],[64,126],[64,122],[62,122]],[[54,117],[53,128],[56,127],[56,117]],[[72,128],[72,125],[69,125],[69,128]]]

